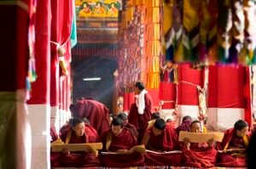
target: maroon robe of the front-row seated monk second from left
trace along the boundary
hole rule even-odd
[[[109,129],[102,133],[102,151],[115,152],[119,149],[131,149],[137,145],[137,138],[127,128],[123,128],[119,136],[112,134],[111,144],[107,149],[108,133],[112,132]],[[103,166],[108,167],[130,167],[130,166],[144,166],[144,158],[140,153],[132,153],[129,155],[101,155],[101,162]]]

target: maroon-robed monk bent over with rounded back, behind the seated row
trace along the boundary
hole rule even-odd
[[[70,110],[73,117],[86,117],[99,135],[109,128],[109,110],[104,104],[96,100],[80,99],[76,104],[70,105]]]

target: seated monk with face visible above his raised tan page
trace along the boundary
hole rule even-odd
[[[201,132],[201,122],[192,121],[191,132]],[[215,164],[217,150],[213,147],[213,138],[207,143],[190,143],[189,138],[183,140],[183,166],[190,167],[212,167]]]

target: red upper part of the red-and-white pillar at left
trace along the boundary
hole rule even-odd
[[[38,78],[36,82],[32,82],[32,97],[28,101],[28,104],[49,104],[49,37],[51,11],[49,1],[40,1],[37,5],[35,15],[35,59]]]

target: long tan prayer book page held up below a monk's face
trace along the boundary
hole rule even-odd
[[[184,132],[180,131],[178,141],[183,142],[184,138],[189,138],[191,143],[207,143],[209,139],[222,142],[224,132]]]

